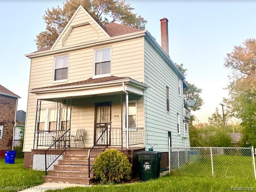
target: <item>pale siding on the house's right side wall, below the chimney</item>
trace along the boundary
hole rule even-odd
[[[178,95],[178,76],[145,40],[146,148],[157,144],[158,151],[168,151],[168,131],[172,146],[184,146],[182,97]],[[166,110],[166,86],[169,87],[170,112]],[[177,113],[180,114],[180,135],[177,134]]]

